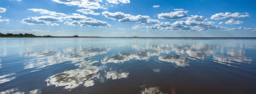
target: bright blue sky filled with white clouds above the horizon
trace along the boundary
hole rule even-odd
[[[0,33],[255,37],[255,0],[0,0]]]

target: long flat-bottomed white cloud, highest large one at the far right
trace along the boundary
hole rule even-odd
[[[211,19],[214,20],[220,20],[220,19],[239,19],[239,18],[245,18],[245,17],[250,17],[249,13],[245,12],[245,13],[230,13],[230,12],[226,12],[226,13],[216,13],[215,15],[211,16]]]

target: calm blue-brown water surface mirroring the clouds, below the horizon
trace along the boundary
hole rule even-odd
[[[0,92],[256,93],[256,38],[0,38]]]

